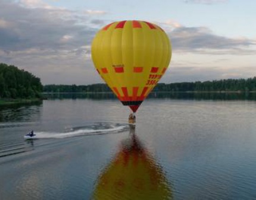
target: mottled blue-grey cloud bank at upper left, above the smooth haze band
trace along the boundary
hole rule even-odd
[[[65,9],[30,9],[0,2],[0,18],[11,24],[0,29],[0,48],[4,50],[77,49],[89,45],[95,34],[95,29],[85,24],[89,19],[79,16],[84,23],[78,24],[78,17]],[[63,42],[65,35],[73,37]]]

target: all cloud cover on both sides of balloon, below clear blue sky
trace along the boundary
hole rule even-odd
[[[108,23],[110,21],[100,20],[98,15],[49,7],[42,1],[0,1],[0,61],[32,72],[43,84],[102,82],[90,58],[90,44],[96,31]],[[229,61],[219,61],[218,65],[213,65],[214,61],[203,61],[205,56],[220,58],[218,56],[230,53],[255,55],[255,40],[218,36],[207,27],[185,27],[174,20],[160,24],[167,30],[174,52],[171,67],[161,81],[255,74],[255,67],[251,66],[255,64],[253,56],[246,71],[232,71],[232,68],[223,71],[221,62],[229,64]],[[191,55],[199,56],[189,58]],[[249,59],[245,57],[239,57],[241,63]]]

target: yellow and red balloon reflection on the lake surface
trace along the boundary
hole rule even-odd
[[[135,135],[135,126],[98,177],[92,199],[173,199],[163,170]]]

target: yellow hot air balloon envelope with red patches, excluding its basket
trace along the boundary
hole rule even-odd
[[[170,40],[147,21],[117,21],[94,37],[92,60],[108,87],[135,113],[170,64]]]

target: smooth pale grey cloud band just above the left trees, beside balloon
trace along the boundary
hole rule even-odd
[[[43,84],[92,84],[102,82],[92,61],[86,59],[86,55],[80,52],[32,49],[28,52],[3,54],[0,50],[1,62],[32,72],[32,74],[41,78]]]

